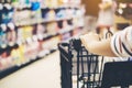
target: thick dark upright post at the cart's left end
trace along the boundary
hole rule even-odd
[[[62,88],[73,88],[73,81],[72,81],[73,55],[69,52],[69,44],[61,43],[58,44],[58,50],[61,52]]]

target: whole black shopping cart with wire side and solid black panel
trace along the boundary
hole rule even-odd
[[[132,85],[132,62],[103,63],[103,56],[89,53],[79,40],[58,44],[62,88],[110,88]],[[77,77],[76,87],[73,76]]]

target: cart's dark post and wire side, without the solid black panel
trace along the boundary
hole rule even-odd
[[[73,88],[72,76],[77,76],[77,88],[95,88],[101,81],[99,56],[88,53],[79,40],[59,43],[62,88]],[[103,58],[102,61],[103,62]],[[101,64],[102,65],[102,64]],[[101,66],[102,68],[102,66]],[[68,80],[67,80],[68,79]]]

